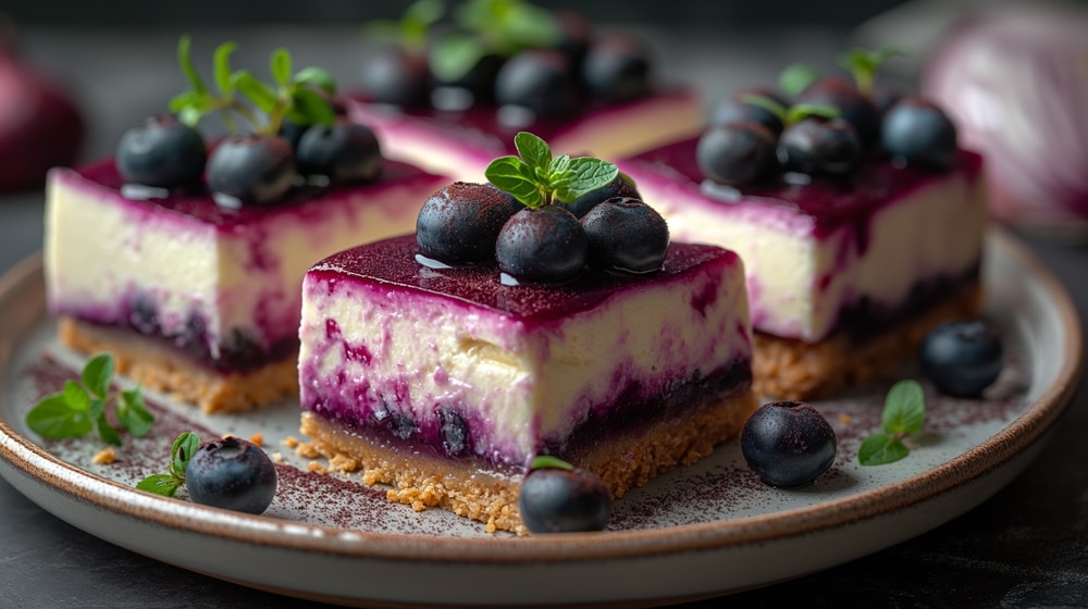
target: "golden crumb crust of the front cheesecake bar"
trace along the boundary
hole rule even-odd
[[[719,399],[706,399],[684,417],[655,421],[636,431],[601,438],[583,450],[561,456],[576,467],[597,474],[613,498],[677,465],[690,465],[709,456],[714,447],[740,434],[756,409],[750,389]],[[404,455],[351,433],[333,421],[304,412],[300,432],[314,449],[348,471],[361,470],[366,484],[387,484],[390,501],[420,511],[442,508],[483,522],[489,532],[511,531],[526,535],[518,493],[521,474],[489,473],[479,461]]]

